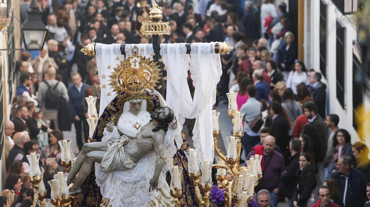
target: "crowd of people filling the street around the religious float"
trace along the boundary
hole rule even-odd
[[[276,1],[157,1],[162,21],[171,27],[162,43],[227,41],[235,47],[221,55],[218,104],[226,102],[226,93],[238,92],[238,110],[245,113],[243,153],[263,154],[263,178],[256,187],[261,207],[276,207],[282,197],[292,207],[362,207],[370,200],[369,148],[351,142],[351,134],[338,127],[339,117],[327,114],[322,74],[297,59],[294,17]],[[21,0],[21,21],[30,2]],[[63,170],[61,131],[74,123],[78,150],[87,141],[84,98],[98,97],[98,110],[101,86],[96,60],[79,50],[92,42],[151,41],[139,31],[149,1],[38,3],[47,42],[41,51],[21,53],[11,121],[4,124],[7,176],[1,196],[9,206],[27,206],[33,199],[26,155],[41,154],[44,180],[50,180]]]

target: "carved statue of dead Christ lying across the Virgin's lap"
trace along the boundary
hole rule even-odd
[[[157,159],[153,177],[149,182],[149,192],[158,190],[158,179],[164,165],[163,139],[174,118],[174,112],[168,107],[162,107],[156,113],[150,115],[152,121],[141,127],[136,134],[135,141],[128,142],[127,136],[108,142],[92,142],[84,144],[80,154],[68,174],[67,183],[74,183],[69,189],[71,194],[81,193],[81,184],[90,174],[92,165],[97,162],[103,172],[112,170],[129,170],[134,168],[139,158],[155,151]],[[110,136],[118,136],[114,123],[111,121],[104,129],[104,134],[113,133]],[[117,133],[117,135],[114,135]],[[119,151],[119,153],[117,152]],[[78,174],[77,174],[78,173]],[[76,176],[77,175],[77,176]]]

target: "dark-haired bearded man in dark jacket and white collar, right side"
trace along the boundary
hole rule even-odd
[[[312,101],[307,101],[303,106],[304,113],[319,133],[319,138],[324,146],[324,151],[327,149],[327,128],[322,117],[318,114],[317,105]]]

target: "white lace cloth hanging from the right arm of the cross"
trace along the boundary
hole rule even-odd
[[[212,106],[216,102],[216,84],[222,69],[219,54],[215,54],[214,42],[192,43],[191,55],[186,54],[185,43],[161,44],[161,56],[167,70],[166,102],[174,110],[178,128],[185,118],[196,118],[193,129],[194,147],[199,162],[213,161]],[[191,98],[186,78],[188,70],[195,87]],[[176,143],[179,140],[176,140]]]

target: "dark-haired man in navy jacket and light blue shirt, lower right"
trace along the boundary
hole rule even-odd
[[[344,206],[364,206],[367,181],[363,173],[351,167],[352,164],[351,157],[340,157],[336,165],[338,171],[332,174],[332,179],[339,185]]]

